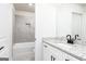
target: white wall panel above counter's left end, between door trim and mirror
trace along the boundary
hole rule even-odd
[[[56,37],[56,8],[52,4],[41,7],[42,37]]]

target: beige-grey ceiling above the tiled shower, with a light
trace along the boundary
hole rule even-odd
[[[35,12],[35,3],[33,3],[33,5],[28,3],[14,3],[14,8],[19,11]]]

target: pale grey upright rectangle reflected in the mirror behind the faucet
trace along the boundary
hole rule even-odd
[[[72,36],[78,35],[82,37],[82,22],[83,14],[82,13],[72,13]]]

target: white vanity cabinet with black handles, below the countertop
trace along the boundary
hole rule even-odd
[[[44,43],[44,61],[78,61],[78,60],[50,44]]]

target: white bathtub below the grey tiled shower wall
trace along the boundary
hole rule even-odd
[[[13,47],[14,61],[34,61],[35,60],[35,42],[15,43]]]

